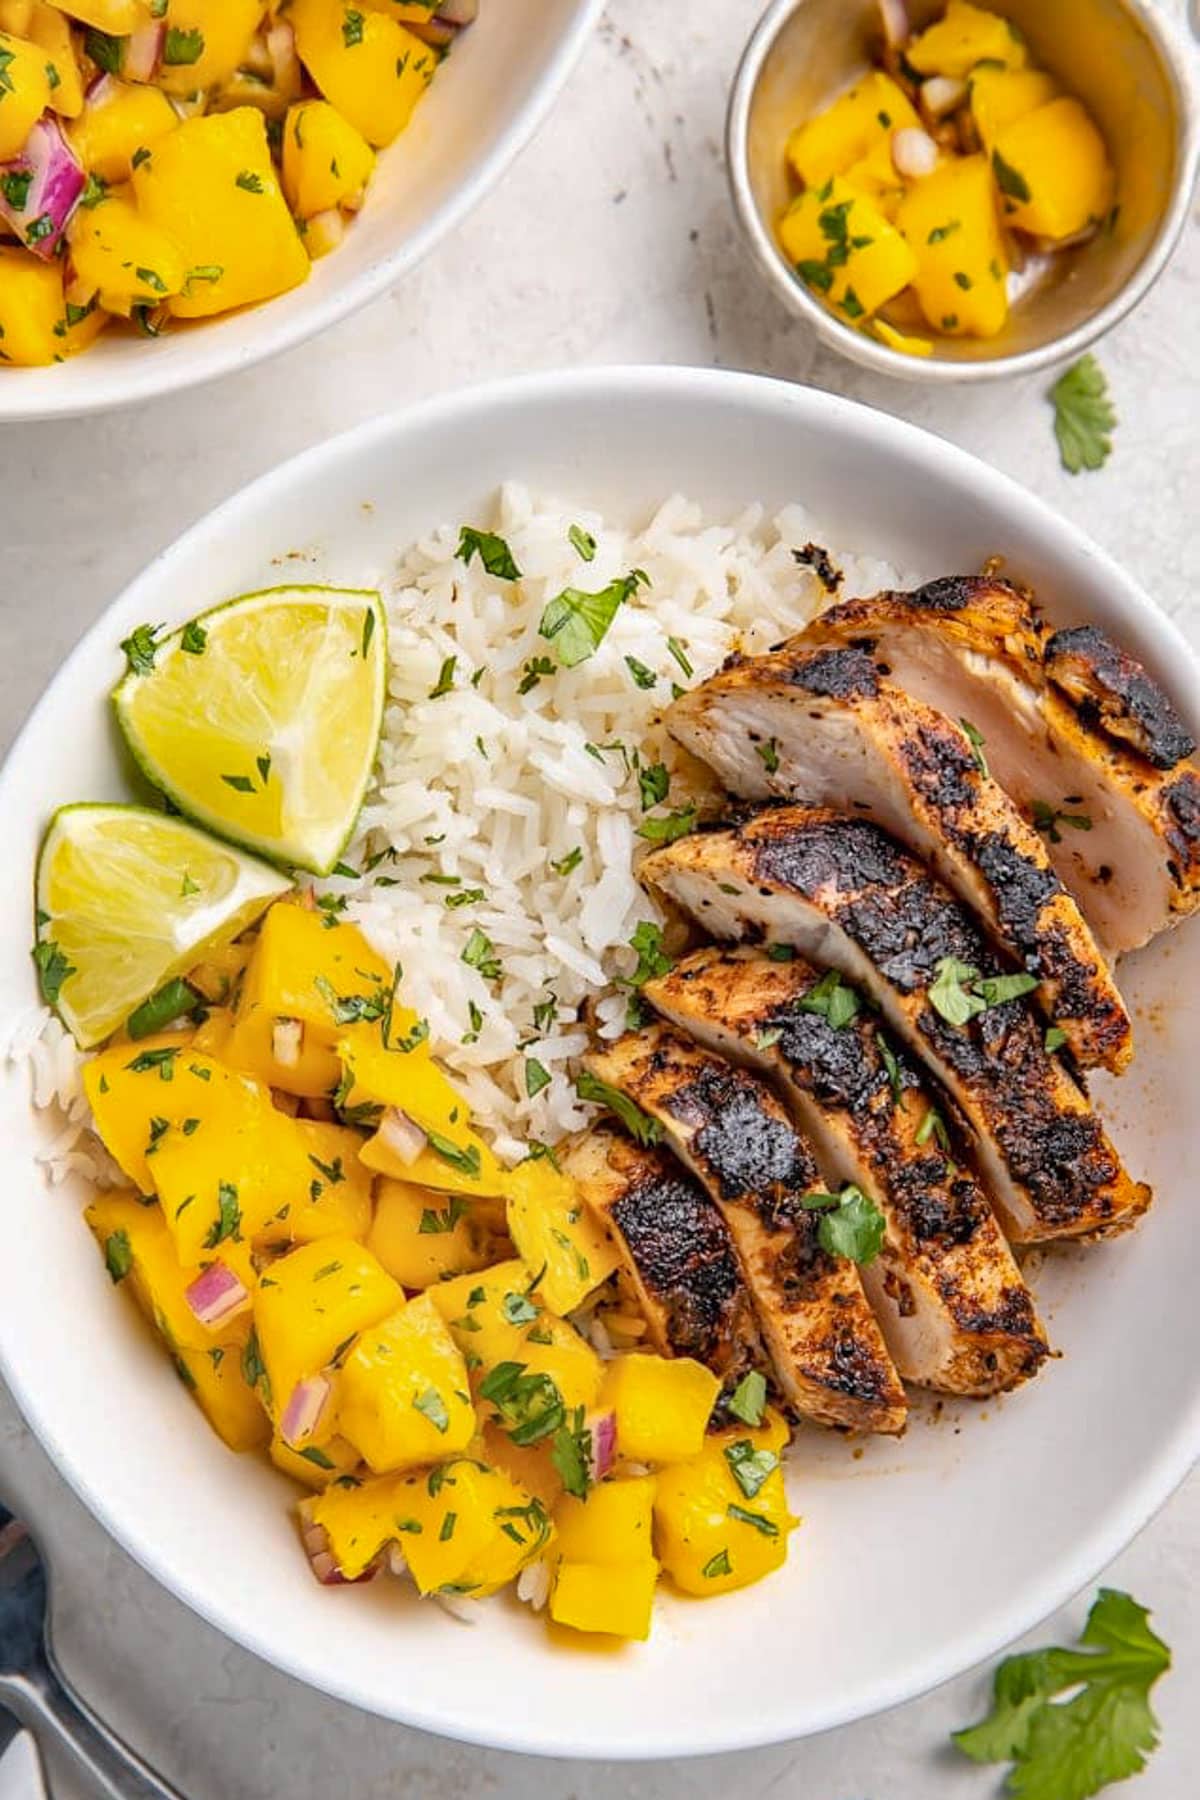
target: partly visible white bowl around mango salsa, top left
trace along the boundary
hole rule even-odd
[[[484,0],[408,130],[380,155],[363,212],[304,286],[160,338],[112,329],[50,369],[0,369],[0,425],[175,394],[250,369],[378,299],[500,180],[563,88],[603,4]]]

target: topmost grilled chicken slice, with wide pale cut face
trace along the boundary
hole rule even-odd
[[[1162,689],[1094,626],[1043,635],[1007,581],[954,576],[847,599],[792,644],[865,650],[905,693],[970,724],[1115,956],[1200,905],[1200,778],[1182,761],[1195,745]]]

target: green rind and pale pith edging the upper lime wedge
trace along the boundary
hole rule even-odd
[[[363,704],[354,707],[356,720],[365,715],[362,756],[345,783],[345,801],[338,808],[336,823],[327,823],[320,833],[309,832],[308,835],[302,830],[255,832],[239,824],[223,794],[221,801],[225,801],[225,805],[214,806],[205,803],[196,796],[194,788],[187,781],[178,779],[173,774],[169,756],[164,758],[162,752],[155,754],[148,749],[135,718],[137,700],[139,695],[144,693],[146,686],[153,682],[162,670],[171,668],[176,657],[187,657],[191,664],[193,659],[184,648],[184,637],[189,630],[200,626],[205,634],[219,634],[221,623],[227,623],[236,612],[248,614],[275,608],[284,610],[286,607],[306,607],[313,603],[326,607],[331,616],[353,612],[363,621],[362,653],[363,662],[371,668],[371,691]],[[374,625],[369,630],[365,626],[367,612],[374,619]],[[196,657],[198,670],[201,661],[203,657]],[[196,689],[198,704],[203,706],[203,680],[196,682]],[[153,788],[166,794],[187,819],[193,819],[205,830],[214,832],[227,842],[239,844],[282,868],[306,869],[313,875],[327,875],[354,835],[358,814],[362,812],[363,797],[371,783],[380,736],[383,731],[383,707],[387,702],[387,612],[383,599],[376,589],[338,589],[308,583],[259,589],[252,594],[241,594],[234,599],[221,601],[221,605],[196,614],[196,617],[178,626],[178,630],[158,639],[155,644],[153,668],[148,673],[140,673],[131,668],[113,689],[112,698],[121,734],[142,776]],[[318,772],[324,760],[318,731],[313,731],[308,742],[300,745],[300,763],[304,761],[306,752],[309,760],[308,769]],[[295,769],[295,779],[291,785],[293,790],[302,792],[306,785],[306,769],[299,767],[295,761],[295,743],[291,743],[291,763],[286,756],[281,756],[277,767]]]

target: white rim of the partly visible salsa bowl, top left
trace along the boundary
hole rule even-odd
[[[381,293],[387,293],[389,288],[396,286],[398,281],[423,263],[441,239],[448,238],[468,212],[473,212],[480,200],[491,193],[500,176],[507,175],[520,151],[542,130],[603,11],[604,0],[578,0],[578,13],[551,52],[529,104],[509,121],[497,137],[491,151],[475,164],[459,187],[448,194],[441,207],[417,230],[410,232],[390,256],[381,257],[360,275],[333,286],[324,299],[317,301],[311,310],[299,313],[290,324],[281,324],[263,344],[243,347],[234,355],[225,353],[219,347],[221,320],[218,317],[210,320],[216,329],[196,353],[194,364],[184,364],[180,369],[173,362],[162,364],[153,380],[131,382],[128,371],[122,369],[113,374],[106,389],[101,389],[94,396],[83,396],[76,392],[70,382],[65,382],[61,394],[43,394],[36,401],[27,403],[14,400],[11,405],[5,401],[4,389],[0,387],[0,427],[124,412],[128,407],[184,394],[189,389],[203,387],[205,382],[218,382],[227,374],[241,374],[246,369],[270,362],[273,356],[282,356],[284,351],[297,349],[297,346],[306,344],[320,331],[340,324],[351,313],[380,299]],[[264,301],[259,310],[266,313],[270,304],[270,301]]]

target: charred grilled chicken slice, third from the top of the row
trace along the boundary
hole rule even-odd
[[[959,1107],[1015,1242],[1115,1231],[1150,1204],[1025,1001],[988,1004],[963,1026],[945,1017],[946,958],[984,979],[1000,965],[957,900],[876,824],[777,806],[657,850],[639,873],[714,938],[795,947],[869,994]]]

